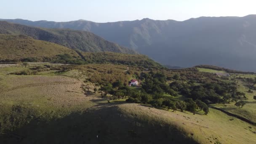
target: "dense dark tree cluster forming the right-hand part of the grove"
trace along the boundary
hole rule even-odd
[[[171,89],[180,92],[182,95],[200,100],[206,104],[230,103],[247,99],[245,93],[237,91],[236,83],[209,80],[202,84],[196,84],[194,80],[187,83],[174,81],[170,83]]]

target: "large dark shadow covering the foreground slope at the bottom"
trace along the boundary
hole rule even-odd
[[[36,118],[15,131],[1,133],[0,141],[3,144],[196,144],[171,125],[131,118],[117,106],[74,112],[51,121]]]

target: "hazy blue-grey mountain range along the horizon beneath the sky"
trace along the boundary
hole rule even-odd
[[[3,19],[2,19],[3,20]],[[200,17],[186,21],[142,19],[95,23],[4,19],[35,27],[70,28],[93,32],[106,40],[147,54],[172,66],[211,64],[256,71],[256,15]]]

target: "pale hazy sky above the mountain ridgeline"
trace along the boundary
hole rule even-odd
[[[143,18],[183,21],[256,14],[256,0],[0,0],[0,19],[96,22]]]

